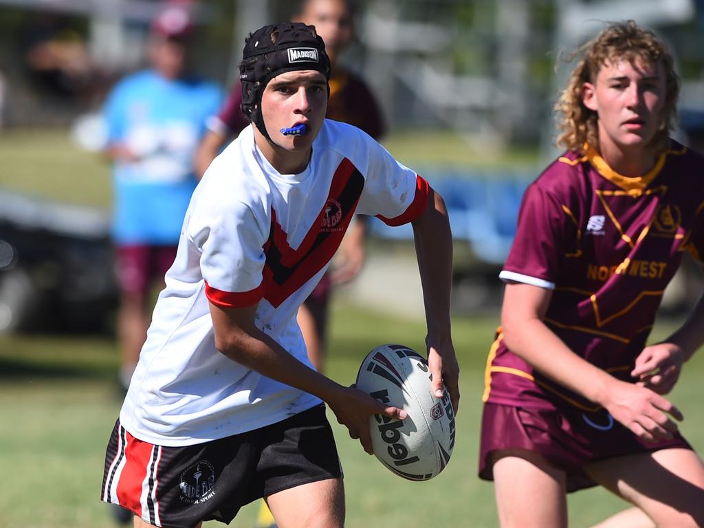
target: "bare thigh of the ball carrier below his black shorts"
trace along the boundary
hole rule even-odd
[[[284,489],[267,498],[279,528],[341,528],[345,522],[342,479]]]

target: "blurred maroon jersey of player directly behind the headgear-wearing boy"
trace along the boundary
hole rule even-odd
[[[354,125],[374,139],[384,135],[384,120],[379,106],[363,80],[342,68],[335,68],[329,84],[326,118]],[[239,134],[240,130],[249,125],[249,120],[241,111],[241,103],[242,88],[237,83],[220,108],[217,118],[208,122],[208,128],[224,137]]]

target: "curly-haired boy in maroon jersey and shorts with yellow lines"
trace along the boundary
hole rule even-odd
[[[660,395],[704,343],[704,297],[646,339],[682,253],[704,256],[704,158],[669,137],[679,80],[655,34],[615,23],[579,51],[556,107],[567,151],[527,189],[500,275],[479,476],[502,527],[565,527],[566,493],[596,484],[701,526],[704,465]]]

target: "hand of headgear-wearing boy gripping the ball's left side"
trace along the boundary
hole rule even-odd
[[[335,398],[328,399],[327,404],[337,422],[347,427],[350,438],[359,439],[364,451],[374,454],[372,437],[369,431],[369,417],[384,415],[395,420],[404,420],[408,413],[398,407],[386,406],[369,394],[355,387],[341,387]]]

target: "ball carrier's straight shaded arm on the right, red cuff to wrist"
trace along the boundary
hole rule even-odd
[[[452,232],[445,203],[434,191],[425,213],[413,222],[413,234],[429,337],[450,339]]]

